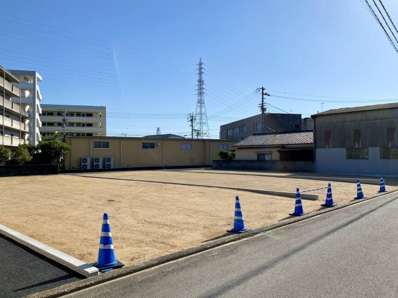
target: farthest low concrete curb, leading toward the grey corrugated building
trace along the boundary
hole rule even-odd
[[[171,172],[177,172],[175,170],[170,170]],[[202,172],[202,171],[187,171],[181,170],[179,172],[187,173],[200,173],[200,174],[224,174],[224,175],[244,175],[244,176],[258,176],[258,177],[275,177],[275,178],[293,178],[293,179],[309,179],[309,180],[320,180],[320,181],[333,181],[333,182],[357,182],[357,178],[344,178],[344,177],[322,177],[322,176],[282,176],[273,174],[243,174],[243,173],[217,173],[217,172]],[[327,174],[327,173],[325,173]],[[359,178],[361,183],[380,185],[380,179],[371,178]]]

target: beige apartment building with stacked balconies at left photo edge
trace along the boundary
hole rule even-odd
[[[29,142],[29,106],[22,101],[20,85],[17,76],[0,66],[0,145],[11,149]]]

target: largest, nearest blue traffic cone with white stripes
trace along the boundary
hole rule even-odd
[[[97,267],[101,273],[124,266],[123,263],[120,263],[115,258],[109,218],[106,213],[103,214],[98,260],[97,263],[93,264],[93,266]]]

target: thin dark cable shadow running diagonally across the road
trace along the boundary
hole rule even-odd
[[[261,265],[261,266],[257,266],[257,268],[254,268],[251,271],[248,271],[246,273],[243,273],[241,276],[239,276],[238,278],[232,279],[230,281],[228,281],[228,283],[225,283],[224,285],[219,285],[217,288],[208,291],[206,294],[202,295],[202,296],[198,296],[197,298],[210,298],[210,297],[217,297],[220,295],[225,295],[225,293],[231,289],[234,289],[236,287],[239,287],[242,285],[242,283],[245,283],[261,274],[264,273],[264,271],[273,268],[275,265],[277,265],[278,263],[281,263],[282,261],[284,261],[285,259],[287,259],[288,257],[291,257],[294,254],[297,254],[298,252],[300,252],[301,250],[303,250],[304,248],[310,246],[311,244],[314,244],[316,242],[318,242],[319,240],[323,239],[324,237],[327,237],[328,235],[331,235],[335,232],[337,232],[338,230],[355,223],[356,221],[362,219],[363,217],[371,214],[372,212],[375,212],[376,210],[390,204],[391,202],[397,200],[398,197],[395,197],[385,203],[383,203],[382,205],[375,207],[371,210],[369,210],[368,212],[365,212],[363,214],[358,215],[357,217],[355,217],[354,219],[346,222],[345,224],[341,224],[333,229],[331,229],[330,231],[316,237],[313,238],[309,241],[307,241],[306,243],[298,246],[295,249],[291,249],[289,251],[287,251],[286,253],[282,254],[281,256],[278,256],[277,258],[274,258],[273,260],[270,260],[269,262]]]

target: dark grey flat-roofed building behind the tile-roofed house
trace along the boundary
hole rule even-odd
[[[243,139],[261,133],[261,114],[220,126],[220,139]],[[301,130],[301,114],[265,115],[266,133],[291,132]]]

